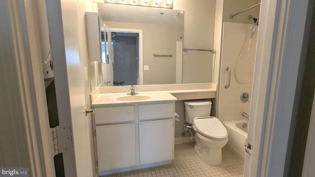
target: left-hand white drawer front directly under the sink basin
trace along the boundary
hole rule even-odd
[[[134,121],[134,106],[95,108],[95,124]]]

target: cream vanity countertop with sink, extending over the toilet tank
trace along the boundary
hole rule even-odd
[[[121,101],[117,99],[121,97],[131,98],[131,95],[127,95],[127,93],[130,93],[129,90],[130,86],[98,88],[91,94],[92,106],[215,98],[217,94],[217,85],[213,83],[203,83],[135,86],[135,92],[139,93],[139,95],[133,96],[134,98],[137,96],[148,96],[148,98],[131,101]]]

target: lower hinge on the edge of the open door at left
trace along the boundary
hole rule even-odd
[[[53,137],[55,155],[67,151],[72,146],[72,134],[69,126],[50,128]],[[58,138],[59,137],[59,138]]]

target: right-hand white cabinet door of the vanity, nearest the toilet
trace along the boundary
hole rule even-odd
[[[173,119],[139,122],[140,163],[173,159]]]

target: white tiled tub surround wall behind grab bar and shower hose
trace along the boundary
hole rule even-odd
[[[251,24],[229,23],[224,22],[223,37],[222,37],[222,54],[221,54],[221,77],[219,86],[219,113],[218,118],[221,121],[239,120],[243,119],[242,112],[249,114],[250,102],[241,102],[241,94],[249,92],[252,97],[252,75],[256,51],[257,31],[251,39],[250,46],[250,61],[248,62],[248,44],[247,41],[243,55],[240,59],[237,76],[241,82],[245,82],[248,78],[251,81],[247,84],[240,84],[235,79],[235,66],[240,55],[245,36],[251,27]],[[228,72],[226,67],[231,69],[231,83],[228,89],[224,86],[228,83]],[[250,71],[252,69],[252,73]]]

